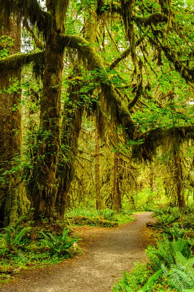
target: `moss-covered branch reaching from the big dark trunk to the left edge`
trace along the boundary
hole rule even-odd
[[[8,56],[6,58],[0,59],[0,75],[5,75],[6,73],[13,73],[26,64],[31,62],[35,64],[44,63],[44,51],[31,53],[31,54],[15,54]]]

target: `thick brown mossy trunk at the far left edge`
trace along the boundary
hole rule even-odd
[[[20,52],[21,17],[13,17],[5,9],[0,13],[0,18],[6,20],[0,29],[0,36],[4,36],[2,40],[7,39],[0,44],[0,50],[7,49],[9,55]],[[15,74],[7,74],[3,84],[0,84],[0,90],[5,91],[0,94],[0,224],[4,226],[14,224],[29,207],[17,167],[22,145],[21,94],[18,90],[6,92],[20,77],[19,69]],[[2,175],[5,172],[7,174]]]

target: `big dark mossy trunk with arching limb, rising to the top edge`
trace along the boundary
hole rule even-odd
[[[64,58],[64,50],[58,42],[58,35],[65,33],[64,19],[68,0],[47,0],[46,6],[47,11],[53,17],[53,28],[46,37],[45,71],[37,139],[39,145],[36,152],[36,166],[28,185],[36,225],[41,223],[41,217],[52,219],[55,212],[58,188],[56,168],[61,143],[60,98]]]

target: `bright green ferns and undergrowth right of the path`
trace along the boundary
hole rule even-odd
[[[148,246],[146,264],[136,263],[113,292],[194,292],[194,209],[155,209],[159,239]]]

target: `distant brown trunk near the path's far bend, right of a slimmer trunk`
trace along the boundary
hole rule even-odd
[[[113,201],[112,210],[119,211],[122,208],[121,191],[119,188],[119,177],[118,177],[118,163],[119,163],[119,152],[114,153],[114,174],[113,174]]]

